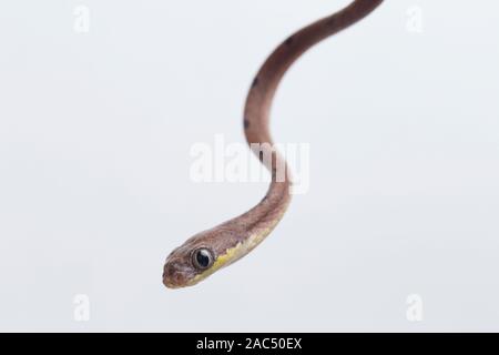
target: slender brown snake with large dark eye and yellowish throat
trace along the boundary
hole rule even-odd
[[[272,175],[264,199],[246,213],[190,237],[166,257],[163,284],[169,288],[193,286],[216,271],[241,260],[259,245],[284,216],[293,182],[285,158],[273,148],[269,132],[272,102],[285,73],[318,42],[371,13],[384,0],[355,0],[338,12],[301,29],[267,58],[247,94],[244,108],[246,141]]]

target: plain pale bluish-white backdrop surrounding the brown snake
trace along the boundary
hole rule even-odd
[[[173,247],[266,190],[193,183],[191,146],[244,142],[259,64],[347,2],[2,1],[0,329],[499,331],[492,0],[387,1],[308,52],[272,129],[310,143],[309,193],[240,263],[162,285]]]

